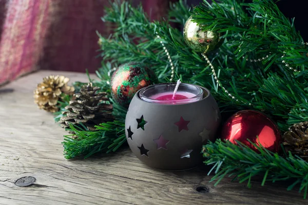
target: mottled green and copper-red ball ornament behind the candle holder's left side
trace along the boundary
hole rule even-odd
[[[145,64],[123,64],[111,76],[111,95],[118,104],[128,107],[138,90],[157,83],[157,76]]]

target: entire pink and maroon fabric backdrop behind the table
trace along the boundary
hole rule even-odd
[[[151,19],[165,0],[142,2]],[[101,17],[106,0],[0,0],[0,85],[37,69],[94,72],[100,67],[98,36],[110,27]]]

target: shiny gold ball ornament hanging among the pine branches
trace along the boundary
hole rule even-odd
[[[186,44],[196,52],[209,52],[218,49],[222,43],[222,33],[203,31],[190,16],[184,26],[184,40]]]

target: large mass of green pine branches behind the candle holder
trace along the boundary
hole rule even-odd
[[[183,22],[181,16],[175,14],[177,11],[186,17],[189,8],[180,1],[171,6],[168,20],[151,23],[142,7],[132,8],[127,2],[113,3],[104,19],[117,24],[118,30],[109,38],[100,36],[103,59],[119,64],[145,61],[159,80],[165,82],[170,76],[170,68],[160,40],[156,38],[158,32],[178,76],[182,76],[186,83],[210,88],[221,110],[266,112],[278,122],[282,131],[308,119],[305,76],[308,49],[302,45],[303,40],[296,32],[293,20],[287,19],[273,0],[254,0],[251,4],[240,0],[222,0],[219,4],[204,1],[192,13],[204,30],[225,34],[223,46],[217,53],[209,53],[208,57],[219,73],[221,84],[238,101],[216,84],[205,60],[185,44],[182,32],[169,25],[172,19]],[[261,62],[250,61],[266,55],[268,58]],[[285,64],[301,72],[293,72]]]

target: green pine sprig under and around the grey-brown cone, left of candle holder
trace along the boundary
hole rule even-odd
[[[74,131],[75,134],[65,135],[64,141],[62,142],[66,159],[72,159],[74,157],[87,158],[98,152],[115,152],[126,142],[124,122],[127,108],[115,103],[111,98],[110,85],[108,84],[110,76],[107,74],[110,69],[110,63],[103,64],[102,68],[96,72],[99,78],[98,80],[91,79],[88,71],[86,73],[88,80],[93,86],[101,88],[101,92],[106,92],[109,96],[110,102],[113,104],[112,114],[115,117],[115,121],[95,126],[95,131],[89,131],[82,123],[77,125],[71,124],[69,130]],[[74,82],[75,92],[78,92],[86,84]],[[63,95],[61,100],[58,101],[59,111],[54,113],[55,121],[59,121],[63,116],[62,112],[69,105],[70,99],[71,96]]]

